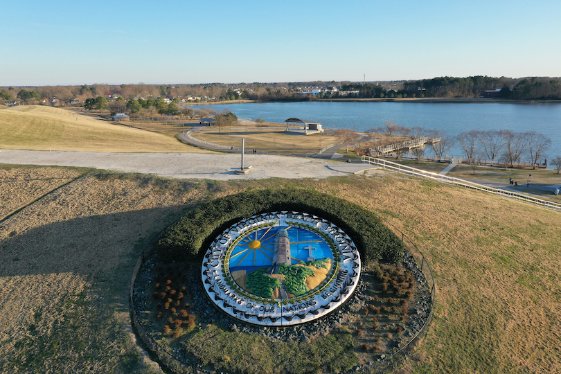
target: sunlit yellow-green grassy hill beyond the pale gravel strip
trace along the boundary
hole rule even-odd
[[[0,110],[0,148],[91,152],[206,152],[171,136],[130,128],[65,109]]]

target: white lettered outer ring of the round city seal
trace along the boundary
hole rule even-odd
[[[289,299],[266,299],[242,290],[229,271],[229,254],[249,233],[267,226],[307,229],[325,240],[333,255],[327,278],[307,294]],[[294,326],[337,310],[353,295],[361,260],[349,236],[321,217],[301,212],[271,212],[240,220],[218,235],[202,262],[202,284],[211,302],[229,316],[259,326]]]

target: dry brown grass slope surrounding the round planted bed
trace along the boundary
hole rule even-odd
[[[1,170],[10,186],[3,213],[82,172]],[[438,287],[434,320],[403,373],[561,371],[561,213],[389,172],[315,181],[91,174],[71,181],[0,222],[0,371],[158,371],[137,348],[127,309],[144,244],[197,202],[281,186],[357,202],[427,256]]]

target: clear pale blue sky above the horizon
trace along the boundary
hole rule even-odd
[[[0,86],[561,76],[561,1],[6,1]]]

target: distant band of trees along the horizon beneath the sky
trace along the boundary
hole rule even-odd
[[[322,87],[317,96],[303,96],[306,87]],[[335,89],[337,88],[337,89]],[[82,84],[77,86],[0,87],[0,103],[20,100],[39,104],[57,98],[59,105],[88,98],[170,98],[193,100],[294,101],[329,98],[477,98],[485,91],[500,90],[499,97],[513,100],[561,100],[561,79],[548,77],[506,78],[476,75],[437,77],[395,82],[285,82],[238,84]]]

